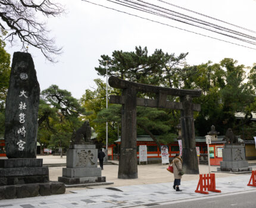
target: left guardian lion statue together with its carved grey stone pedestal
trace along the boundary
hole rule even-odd
[[[98,149],[90,141],[91,128],[89,121],[72,135],[72,143],[67,150],[67,168],[63,168],[63,176],[58,177],[66,187],[90,186],[95,184],[113,184],[106,182],[98,168]]]

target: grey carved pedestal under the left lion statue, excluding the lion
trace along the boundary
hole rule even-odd
[[[106,182],[97,166],[95,144],[71,144],[67,150],[67,168],[63,168],[63,177],[58,177],[58,181],[67,185]]]

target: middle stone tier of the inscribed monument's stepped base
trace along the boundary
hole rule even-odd
[[[0,168],[0,178],[49,175],[48,167]]]

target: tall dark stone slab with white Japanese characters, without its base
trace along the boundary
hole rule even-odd
[[[8,158],[36,158],[40,88],[29,53],[15,52],[5,106]]]

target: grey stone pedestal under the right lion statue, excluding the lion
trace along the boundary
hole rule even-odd
[[[249,172],[248,162],[245,160],[245,149],[241,144],[225,144],[222,150],[223,161],[217,171],[224,172]]]

